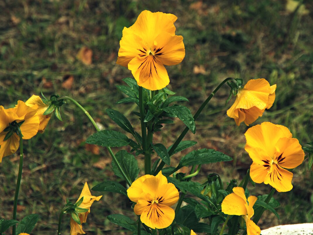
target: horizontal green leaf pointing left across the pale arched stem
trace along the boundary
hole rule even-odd
[[[118,131],[102,130],[98,131],[86,140],[87,144],[96,144],[104,147],[122,147],[130,143],[129,138]]]

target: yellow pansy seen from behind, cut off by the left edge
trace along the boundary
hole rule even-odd
[[[0,162],[3,157],[18,149],[20,138],[16,134],[17,125],[23,139],[30,139],[37,134],[39,118],[36,112],[37,105],[29,107],[20,100],[14,108],[5,109],[0,106]]]

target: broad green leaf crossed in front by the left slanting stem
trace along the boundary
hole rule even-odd
[[[120,163],[122,169],[124,170],[125,174],[128,176],[131,181],[134,181],[139,173],[138,163],[135,157],[128,153],[126,150],[121,150],[115,154],[117,161]],[[112,161],[112,168],[115,175],[121,177],[123,176],[120,170],[115,165],[115,162]]]

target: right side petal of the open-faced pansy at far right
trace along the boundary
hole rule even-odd
[[[295,138],[280,138],[275,144],[277,149],[277,164],[281,167],[292,169],[299,166],[304,160],[304,152]]]

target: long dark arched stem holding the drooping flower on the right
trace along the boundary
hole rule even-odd
[[[212,97],[215,95],[215,93],[219,90],[219,88],[221,88],[221,86],[223,86],[227,81],[232,80],[235,84],[237,83],[236,80],[234,80],[232,77],[228,77],[226,79],[224,79],[224,81],[222,81],[217,87],[216,89],[211,93],[211,95],[209,95],[209,97],[203,102],[203,104],[200,106],[200,108],[198,109],[198,111],[196,112],[196,114],[193,116],[193,119],[196,121],[196,119],[198,118],[198,116],[200,115],[200,113],[202,112],[202,110],[204,109],[204,107],[208,104],[208,102],[212,99]],[[185,137],[186,133],[188,132],[189,128],[186,127],[183,132],[180,134],[180,136],[177,138],[177,140],[175,141],[175,143],[173,144],[172,148],[170,149],[170,151],[168,152],[168,154],[171,156],[175,149],[177,148],[178,144],[182,141],[182,139]],[[157,173],[159,173],[160,170],[162,170],[162,168],[164,167],[165,162],[161,162],[160,165],[156,168],[156,171],[154,172],[154,175],[157,175]]]

